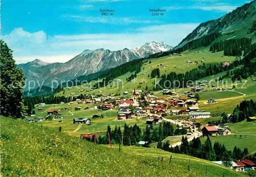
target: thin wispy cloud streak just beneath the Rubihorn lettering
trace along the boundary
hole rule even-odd
[[[160,23],[161,21],[158,20],[141,20],[135,19],[131,17],[90,17],[90,16],[81,16],[81,15],[69,15],[63,14],[61,15],[62,18],[66,18],[72,21],[84,21],[90,23],[111,23],[111,24],[124,24],[124,23]]]

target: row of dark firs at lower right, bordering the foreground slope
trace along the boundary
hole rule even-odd
[[[239,147],[234,146],[233,151],[227,150],[225,145],[218,141],[212,146],[208,136],[204,144],[201,143],[199,137],[194,137],[192,141],[188,142],[187,137],[184,138],[184,136],[182,136],[180,147],[178,145],[172,147],[169,141],[166,141],[163,143],[159,142],[158,148],[172,153],[186,154],[209,161],[223,161],[224,165],[228,167],[231,166],[231,161],[240,161],[245,156],[249,155],[247,147],[241,150]]]

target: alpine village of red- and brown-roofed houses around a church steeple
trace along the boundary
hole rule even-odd
[[[92,125],[92,122],[96,119],[104,118],[103,114],[97,114],[100,111],[117,111],[116,121],[143,119],[146,125],[158,125],[159,123],[166,121],[174,125],[179,126],[180,129],[186,129],[188,142],[198,137],[217,137],[231,135],[231,129],[224,124],[216,124],[211,121],[207,121],[206,124],[202,124],[197,119],[207,119],[211,117],[210,112],[200,110],[198,100],[195,98],[197,92],[203,92],[200,87],[189,88],[190,91],[184,91],[183,94],[186,97],[180,97],[176,92],[171,92],[168,89],[162,90],[162,95],[155,96],[150,91],[132,90],[132,98],[125,98],[128,92],[124,92],[119,97],[112,95],[102,95],[102,97],[93,97],[88,99],[76,99],[74,102],[67,103],[69,106],[81,105],[73,107],[73,110],[63,105],[60,110],[47,110],[46,117],[26,118],[26,122],[40,122],[40,121],[58,121],[61,122],[65,117],[61,116],[61,111],[79,112],[82,110],[94,110],[95,114],[91,117],[77,117],[73,118],[73,124],[87,124]],[[208,99],[207,104],[217,103],[215,99]],[[82,106],[84,105],[84,106]],[[44,110],[46,104],[40,103],[37,106],[38,111]],[[71,113],[71,112],[70,112]],[[166,118],[168,116],[168,118]],[[232,115],[229,114],[230,118]],[[50,118],[51,117],[51,118]],[[172,118],[175,117],[175,118]],[[251,120],[255,120],[255,117],[250,117]],[[101,132],[97,132],[101,133]],[[94,133],[81,134],[83,138],[90,138],[94,136]],[[137,145],[147,147],[147,141],[139,141]],[[181,142],[170,144],[170,147],[180,146]],[[222,161],[214,161],[214,163],[222,164]],[[248,159],[244,159],[241,162],[232,162],[234,171],[254,170],[255,164]]]

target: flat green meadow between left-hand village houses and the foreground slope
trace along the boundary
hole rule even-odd
[[[126,123],[127,125],[131,126],[135,123],[139,125],[139,127],[143,130],[146,127],[146,118],[135,118],[135,119],[127,119],[127,120],[117,120],[117,109],[109,110],[109,111],[98,111],[94,109],[89,110],[81,110],[81,111],[75,111],[74,108],[78,107],[90,107],[93,108],[93,104],[57,104],[57,105],[46,105],[46,107],[43,108],[42,111],[35,110],[36,116],[42,116],[46,117],[47,110],[49,109],[56,109],[59,110],[61,116],[63,117],[62,121],[59,122],[58,120],[44,120],[41,122],[37,122],[39,125],[47,125],[48,127],[52,127],[55,129],[58,129],[61,127],[63,132],[70,133],[76,130],[79,126],[79,130],[77,130],[74,133],[71,133],[73,136],[80,136],[80,134],[84,133],[95,133],[98,131],[106,131],[106,127],[108,125],[111,126],[111,128],[115,128],[115,125],[117,127],[120,126],[121,129],[123,129],[123,125]],[[61,110],[62,108],[69,108],[69,110]],[[92,119],[93,115],[103,115],[103,118],[100,119]],[[73,118],[90,118],[92,120],[91,125],[87,124],[73,124]],[[158,125],[154,125],[154,127],[157,127]]]

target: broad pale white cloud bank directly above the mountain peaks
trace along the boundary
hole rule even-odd
[[[29,33],[17,28],[2,38],[13,50],[17,63],[36,58],[53,63],[66,62],[85,49],[119,50],[125,47],[132,49],[153,40],[175,46],[198,25],[199,23],[164,24],[135,29],[131,33],[56,36],[49,36],[43,31]]]

